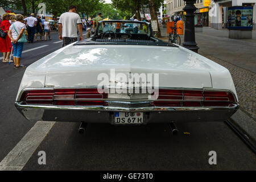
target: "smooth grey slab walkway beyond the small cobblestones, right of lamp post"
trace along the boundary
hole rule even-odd
[[[160,30],[161,39],[168,41],[166,28],[160,27]],[[182,44],[184,35],[180,38]],[[228,30],[203,27],[203,32],[196,33],[196,43],[200,54],[214,56],[256,73],[256,31],[253,31],[253,39],[229,39]]]

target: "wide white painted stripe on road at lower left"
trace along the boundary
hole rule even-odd
[[[26,165],[36,148],[44,140],[55,122],[38,121],[5,156],[0,163],[0,171],[20,171]]]

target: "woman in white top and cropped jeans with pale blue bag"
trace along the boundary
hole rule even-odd
[[[20,64],[23,44],[24,42],[27,42],[26,36],[23,34],[24,30],[26,30],[26,25],[22,23],[23,18],[23,15],[16,14],[16,22],[10,26],[10,30],[8,32],[11,44],[13,44],[14,68],[26,68],[24,65]]]

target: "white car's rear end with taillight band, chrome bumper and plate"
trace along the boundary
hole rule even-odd
[[[24,89],[17,109],[31,121],[146,124],[224,121],[237,109],[231,90],[159,88],[154,93],[100,93],[97,88]]]

